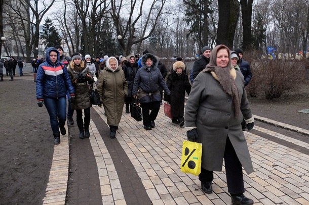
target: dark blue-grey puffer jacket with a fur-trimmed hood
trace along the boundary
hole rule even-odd
[[[148,58],[152,60],[152,65],[150,67],[146,66],[146,60]],[[140,103],[161,101],[160,86],[167,94],[170,94],[170,90],[167,87],[159,68],[157,68],[158,63],[158,58],[150,53],[145,54],[141,59],[143,67],[138,69],[136,73],[132,91],[132,95],[137,95],[137,91],[139,91],[138,96]]]

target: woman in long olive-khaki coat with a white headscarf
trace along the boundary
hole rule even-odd
[[[122,117],[125,97],[128,95],[128,82],[125,73],[118,67],[115,57],[106,61],[106,67],[100,72],[97,85],[98,93],[106,113],[110,138],[115,138]]]

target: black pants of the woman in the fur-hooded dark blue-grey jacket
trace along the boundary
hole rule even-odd
[[[144,126],[150,126],[150,121],[155,121],[159,110],[160,110],[160,101],[152,102],[152,103],[142,103],[142,114],[143,114],[143,124]],[[150,108],[152,109],[150,114]]]

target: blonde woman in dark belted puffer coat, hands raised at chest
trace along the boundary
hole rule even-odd
[[[91,92],[88,83],[92,84],[94,79],[89,68],[85,68],[85,62],[82,61],[79,53],[72,55],[72,60],[68,65],[67,71],[75,89],[75,99],[71,101],[71,108],[76,110],[76,122],[80,130],[80,138],[89,138]],[[82,110],[84,110],[85,114],[84,122]]]

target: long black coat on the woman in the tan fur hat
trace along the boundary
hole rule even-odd
[[[188,76],[184,73],[178,75],[174,71],[168,75],[166,84],[171,91],[169,103],[172,116],[183,117],[185,91],[187,94],[191,91]],[[165,99],[168,99],[168,96],[165,95]]]

